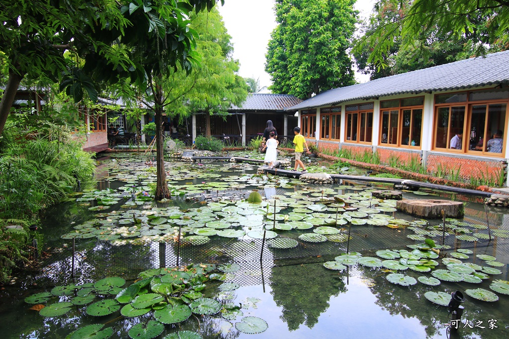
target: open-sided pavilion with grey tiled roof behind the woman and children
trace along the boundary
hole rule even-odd
[[[210,134],[223,138],[227,143],[249,143],[250,139],[263,134],[267,120],[272,120],[280,138],[293,135],[291,131],[297,126],[297,117],[294,116],[295,111],[289,113],[286,109],[301,102],[302,100],[285,94],[249,94],[241,107],[232,106],[228,110],[228,116],[193,114],[193,140],[196,135],[206,135],[207,120]]]

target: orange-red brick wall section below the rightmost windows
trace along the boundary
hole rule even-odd
[[[481,177],[497,176],[500,170],[506,167],[505,160],[502,159],[464,159],[456,158],[443,154],[428,154],[426,161],[427,170],[429,173],[437,172],[441,166],[442,171],[457,171],[460,170],[460,176],[465,179],[470,179],[471,175]]]

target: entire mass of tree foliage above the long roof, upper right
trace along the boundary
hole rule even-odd
[[[509,48],[503,0],[381,0],[375,11],[354,53],[361,68],[364,63],[379,75],[394,65],[401,73]]]

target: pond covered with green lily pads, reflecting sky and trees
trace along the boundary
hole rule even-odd
[[[509,337],[503,210],[420,220],[372,197],[390,187],[205,160],[167,161],[172,198],[155,203],[145,162],[100,160],[97,188],[49,211],[37,269],[2,291],[3,338]],[[403,192],[433,195],[459,199]]]

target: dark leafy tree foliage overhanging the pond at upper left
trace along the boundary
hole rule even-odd
[[[188,30],[188,15],[193,9],[210,10],[214,5],[215,0],[153,4],[146,0],[2,2],[0,50],[5,54],[0,57],[8,65],[9,78],[0,101],[0,134],[25,76],[62,81],[62,89],[76,101],[83,91],[95,100],[97,89],[92,79],[116,81],[119,73],[145,78],[143,67],[131,60],[130,46],[136,47],[147,35],[156,33],[166,50],[165,65],[181,64],[190,70],[194,35]],[[69,65],[66,50],[84,63]]]

